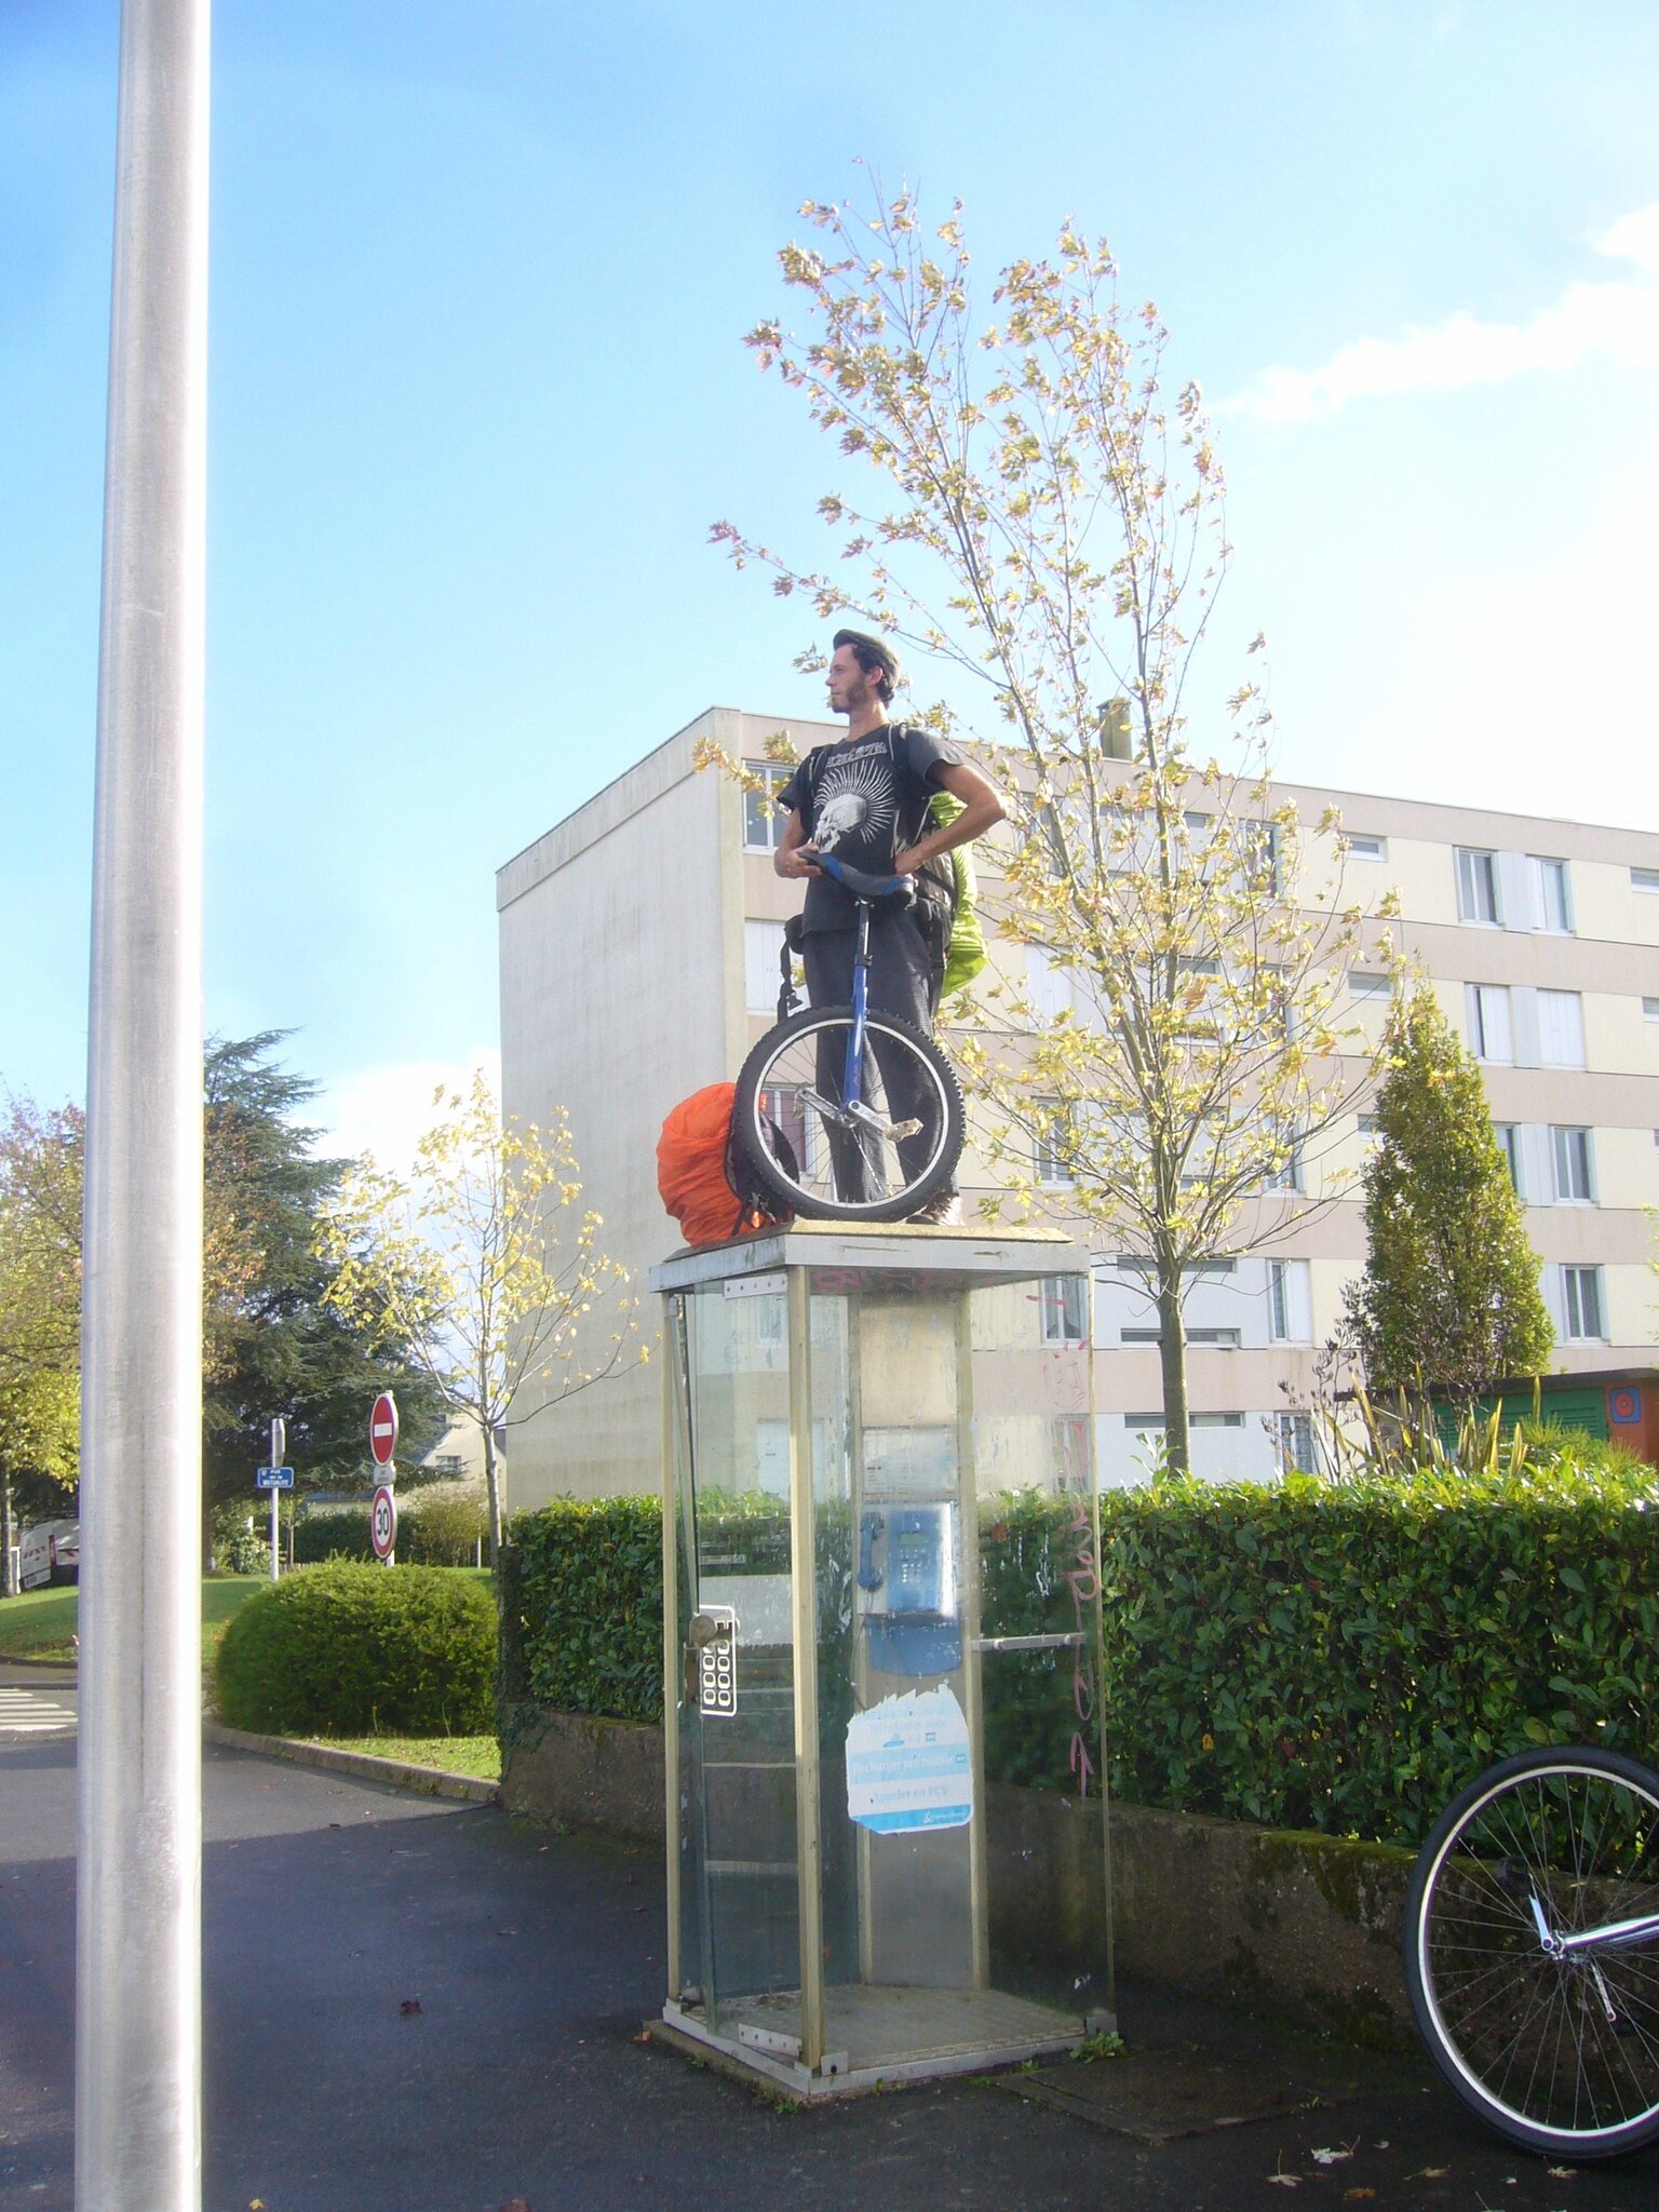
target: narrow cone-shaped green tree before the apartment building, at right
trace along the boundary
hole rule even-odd
[[[1378,1141],[1365,1168],[1365,1274],[1349,1321],[1374,1396],[1471,1398],[1540,1374],[1555,1329],[1480,1068],[1429,984],[1385,1031]]]

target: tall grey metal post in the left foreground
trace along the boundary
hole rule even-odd
[[[77,2212],[201,2203],[208,0],[124,0],[82,1352]]]

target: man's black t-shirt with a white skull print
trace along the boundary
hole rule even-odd
[[[914,723],[883,723],[867,737],[816,745],[779,792],[781,807],[799,807],[807,838],[847,867],[891,876],[894,860],[914,845],[938,790],[936,768],[956,768],[962,754],[949,739]],[[852,929],[858,920],[852,891],[832,876],[807,883],[803,929]]]

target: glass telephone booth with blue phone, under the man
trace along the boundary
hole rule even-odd
[[[1110,2026],[1088,1256],[801,1223],[653,1287],[670,2037],[816,2097]]]

